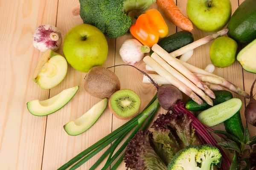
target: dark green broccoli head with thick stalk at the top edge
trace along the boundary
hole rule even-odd
[[[79,0],[84,23],[96,26],[110,38],[124,35],[131,27],[128,12],[147,9],[155,0]]]

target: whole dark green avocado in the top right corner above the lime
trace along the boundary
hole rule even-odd
[[[256,0],[245,0],[236,9],[227,25],[228,37],[240,44],[256,39]]]

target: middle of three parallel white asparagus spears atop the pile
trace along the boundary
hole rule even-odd
[[[154,59],[159,65],[161,65],[166,71],[172,74],[172,76],[180,80],[180,82],[182,82],[192,91],[194,91],[195,94],[197,94],[198,96],[201,96],[202,99],[204,99],[204,101],[208,103],[208,105],[213,105],[212,99],[210,99],[209,96],[204,94],[204,92],[201,89],[199,89],[196,85],[190,82],[186,77],[180,74],[177,70],[172,68],[167,62],[165,62],[161,57],[159,57],[159,55],[157,55],[156,53],[153,53],[151,54],[151,58]]]

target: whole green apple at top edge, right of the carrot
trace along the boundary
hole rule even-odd
[[[230,0],[188,0],[186,8],[192,23],[207,32],[226,26],[232,10]]]

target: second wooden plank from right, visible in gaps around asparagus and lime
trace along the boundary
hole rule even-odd
[[[230,0],[231,5],[232,5],[232,13],[236,10],[236,8],[238,7],[238,0]],[[186,14],[186,4],[187,4],[187,0],[177,0],[177,6],[180,9],[180,11],[187,16]],[[178,31],[180,31],[180,29],[178,28]],[[206,37],[207,35],[211,35],[213,33],[209,33],[209,32],[205,32],[205,31],[201,31],[198,28],[196,28],[194,26],[194,31],[192,31],[192,34],[194,36],[195,40],[199,40],[200,38]],[[204,69],[208,64],[211,64],[211,60],[209,57],[209,49],[211,46],[212,42],[209,42],[205,45],[201,45],[198,48],[195,48],[194,50],[194,54],[193,56],[188,60],[188,63],[195,65],[199,68]],[[217,68],[215,67],[215,71],[214,74],[217,74],[218,76],[221,76],[225,79],[227,79],[228,81],[232,82],[233,84],[239,86],[241,89],[244,88],[243,85],[243,71],[241,66],[239,65],[239,63],[237,61],[235,61],[233,63],[233,65],[227,67],[227,68]],[[233,93],[233,97],[234,98],[239,98],[241,99],[241,101],[244,101],[244,98],[241,96],[238,96],[237,94]],[[241,119],[242,119],[242,123],[244,126],[246,126],[246,119],[244,117],[244,102],[243,105],[241,107],[240,110],[240,114],[241,114]],[[215,127],[213,127],[213,129],[215,130],[225,130],[225,127],[223,124],[217,125]],[[215,137],[215,139],[218,139],[218,141],[220,141],[220,138],[216,135],[213,134],[213,136]],[[225,151],[225,153],[227,154],[227,156],[231,158],[232,155],[228,152]]]

